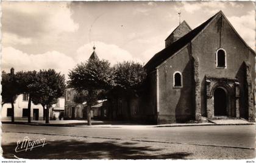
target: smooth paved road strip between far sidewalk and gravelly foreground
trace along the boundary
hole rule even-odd
[[[217,147],[255,148],[255,125],[201,127],[43,127],[2,124],[3,132],[41,133],[65,136],[147,140]]]

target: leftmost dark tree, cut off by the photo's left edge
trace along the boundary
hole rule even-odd
[[[12,68],[13,69],[13,68]],[[18,93],[18,85],[16,82],[16,76],[14,74],[14,69],[11,73],[7,74],[5,72],[2,72],[2,103],[3,106],[5,103],[11,103],[12,105],[12,122],[14,122],[14,103],[17,99]]]

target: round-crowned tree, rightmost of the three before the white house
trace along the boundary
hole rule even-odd
[[[54,69],[40,70],[37,80],[33,84],[35,91],[35,103],[46,106],[46,123],[49,123],[49,108],[63,96],[65,90],[65,77]]]

